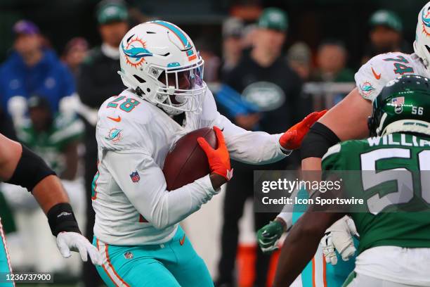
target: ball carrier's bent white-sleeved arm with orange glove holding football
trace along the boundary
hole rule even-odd
[[[216,150],[203,138],[197,139],[207,154],[211,174],[173,191],[167,191],[162,170],[143,149],[107,151],[102,160],[136,210],[155,228],[164,229],[199,210],[230,179],[232,170],[226,144],[221,130],[216,127],[214,130],[218,140]],[[138,172],[138,181],[131,180],[132,172]]]

